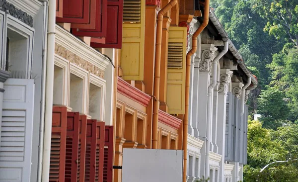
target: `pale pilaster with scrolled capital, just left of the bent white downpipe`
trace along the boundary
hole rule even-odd
[[[206,138],[207,129],[207,102],[208,102],[208,87],[210,85],[211,64],[214,59],[216,48],[214,44],[203,44],[201,61],[199,63],[199,87],[198,87],[198,138],[205,141],[201,149],[202,159],[201,164],[205,164],[206,154]],[[209,149],[208,149],[209,150]],[[205,167],[209,170],[209,167]],[[205,174],[205,169],[201,168],[200,174]]]

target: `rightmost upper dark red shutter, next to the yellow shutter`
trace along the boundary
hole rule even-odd
[[[117,48],[122,47],[122,21],[123,0],[108,0],[107,35],[105,44],[96,43],[91,40],[94,48]]]

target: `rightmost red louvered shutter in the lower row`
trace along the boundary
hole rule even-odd
[[[112,182],[113,175],[113,126],[105,126],[104,132],[104,160],[103,182]]]

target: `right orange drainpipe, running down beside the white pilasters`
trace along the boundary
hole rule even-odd
[[[204,20],[200,27],[195,31],[192,37],[192,48],[186,55],[186,83],[185,83],[185,114],[183,118],[183,182],[186,182],[187,174],[187,133],[188,133],[188,108],[189,108],[189,84],[190,84],[190,62],[191,56],[197,51],[197,37],[208,25],[209,22],[209,0],[205,0],[204,5]]]

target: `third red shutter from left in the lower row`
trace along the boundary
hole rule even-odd
[[[87,116],[80,115],[78,131],[77,182],[85,181],[86,127]]]

